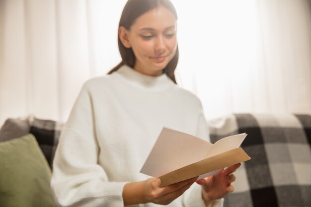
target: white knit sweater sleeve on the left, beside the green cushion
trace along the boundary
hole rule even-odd
[[[98,165],[91,95],[83,86],[56,150],[51,187],[62,207],[123,207],[125,182],[109,182]]]

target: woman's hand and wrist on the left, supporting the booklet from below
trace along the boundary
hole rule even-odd
[[[137,183],[128,183],[123,188],[124,206],[155,203],[168,205],[181,196],[195,181],[191,178],[160,188],[159,178],[150,178]]]

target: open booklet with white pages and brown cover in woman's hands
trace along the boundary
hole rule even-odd
[[[217,174],[225,167],[250,160],[239,148],[246,136],[245,133],[233,135],[212,144],[163,127],[140,172],[159,177],[160,187]]]

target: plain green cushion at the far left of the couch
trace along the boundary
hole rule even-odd
[[[57,207],[51,170],[33,135],[0,142],[0,206]]]

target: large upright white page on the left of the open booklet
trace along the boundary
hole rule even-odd
[[[163,127],[141,173],[159,177],[204,158],[210,142]]]

